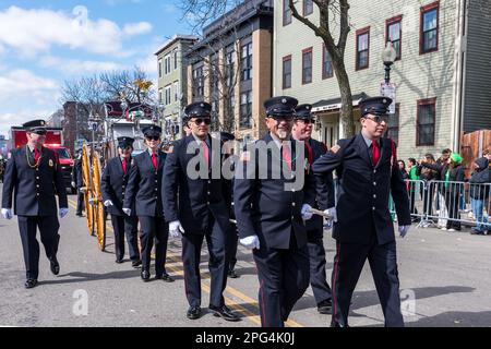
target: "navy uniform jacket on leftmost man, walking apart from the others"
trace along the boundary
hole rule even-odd
[[[37,168],[34,156],[27,146],[12,151],[12,157],[7,161],[3,178],[2,207],[12,207],[14,192],[14,213],[19,216],[53,216],[57,214],[58,194],[59,207],[68,207],[67,190],[63,173],[53,151],[43,147],[41,158]]]

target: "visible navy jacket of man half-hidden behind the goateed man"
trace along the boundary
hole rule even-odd
[[[319,159],[322,155],[324,155],[327,152],[327,147],[324,145],[324,143],[319,142],[313,139],[309,139],[309,146],[311,148],[312,154],[311,161],[312,164]],[[312,167],[312,164],[310,164],[310,167]],[[311,169],[309,169],[311,170]],[[327,174],[325,180],[319,180],[319,178],[315,178],[316,180],[316,198],[315,198],[315,206],[314,208],[319,208],[319,202],[321,197],[327,197],[327,208],[334,207],[335,201],[334,201],[334,182],[333,182],[333,174]],[[306,227],[308,231],[323,231],[324,226],[324,218],[318,215],[313,215],[311,219],[306,221]]]

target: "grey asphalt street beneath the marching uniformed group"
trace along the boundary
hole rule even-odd
[[[258,327],[258,278],[251,253],[239,248],[238,279],[229,279],[225,297],[241,321],[229,323],[206,313],[209,279],[203,249],[205,314],[185,317],[180,242],[169,243],[167,269],[172,284],[143,284],[130,262],[115,263],[112,232],[107,251],[100,252],[88,234],[85,218],[70,213],[60,220],[59,276],[49,270],[41,246],[39,286],[26,290],[24,262],[16,218],[0,218],[0,325],[1,326],[165,326]],[[110,221],[108,221],[110,227]],[[326,233],[327,275],[334,258],[334,240]],[[412,228],[397,238],[403,309],[407,326],[491,326],[491,236]],[[316,312],[309,288],[297,303],[288,326],[326,327],[331,315]],[[382,326],[383,314],[368,264],[355,291],[351,326]]]

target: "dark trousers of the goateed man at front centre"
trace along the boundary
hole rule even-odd
[[[260,281],[259,303],[262,327],[284,327],[295,303],[309,287],[309,250],[298,248],[295,233],[289,250],[253,250]]]

